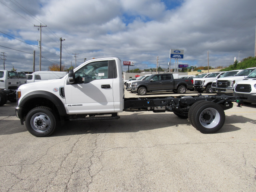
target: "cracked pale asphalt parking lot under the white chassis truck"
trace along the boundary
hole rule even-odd
[[[166,95],[178,94],[147,94]],[[234,104],[215,134],[172,112],[139,111],[68,122],[47,138],[32,136],[15,107],[0,107],[1,192],[256,191],[256,104]]]

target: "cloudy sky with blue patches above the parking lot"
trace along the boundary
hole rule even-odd
[[[42,70],[84,58],[118,57],[148,69],[167,68],[170,49],[179,64],[229,66],[254,56],[255,0],[0,0],[0,52],[5,69],[32,71],[42,27]],[[3,59],[4,57],[1,56]],[[0,69],[4,60],[0,60]],[[174,59],[171,60],[174,68]],[[124,66],[124,70],[128,67]]]

